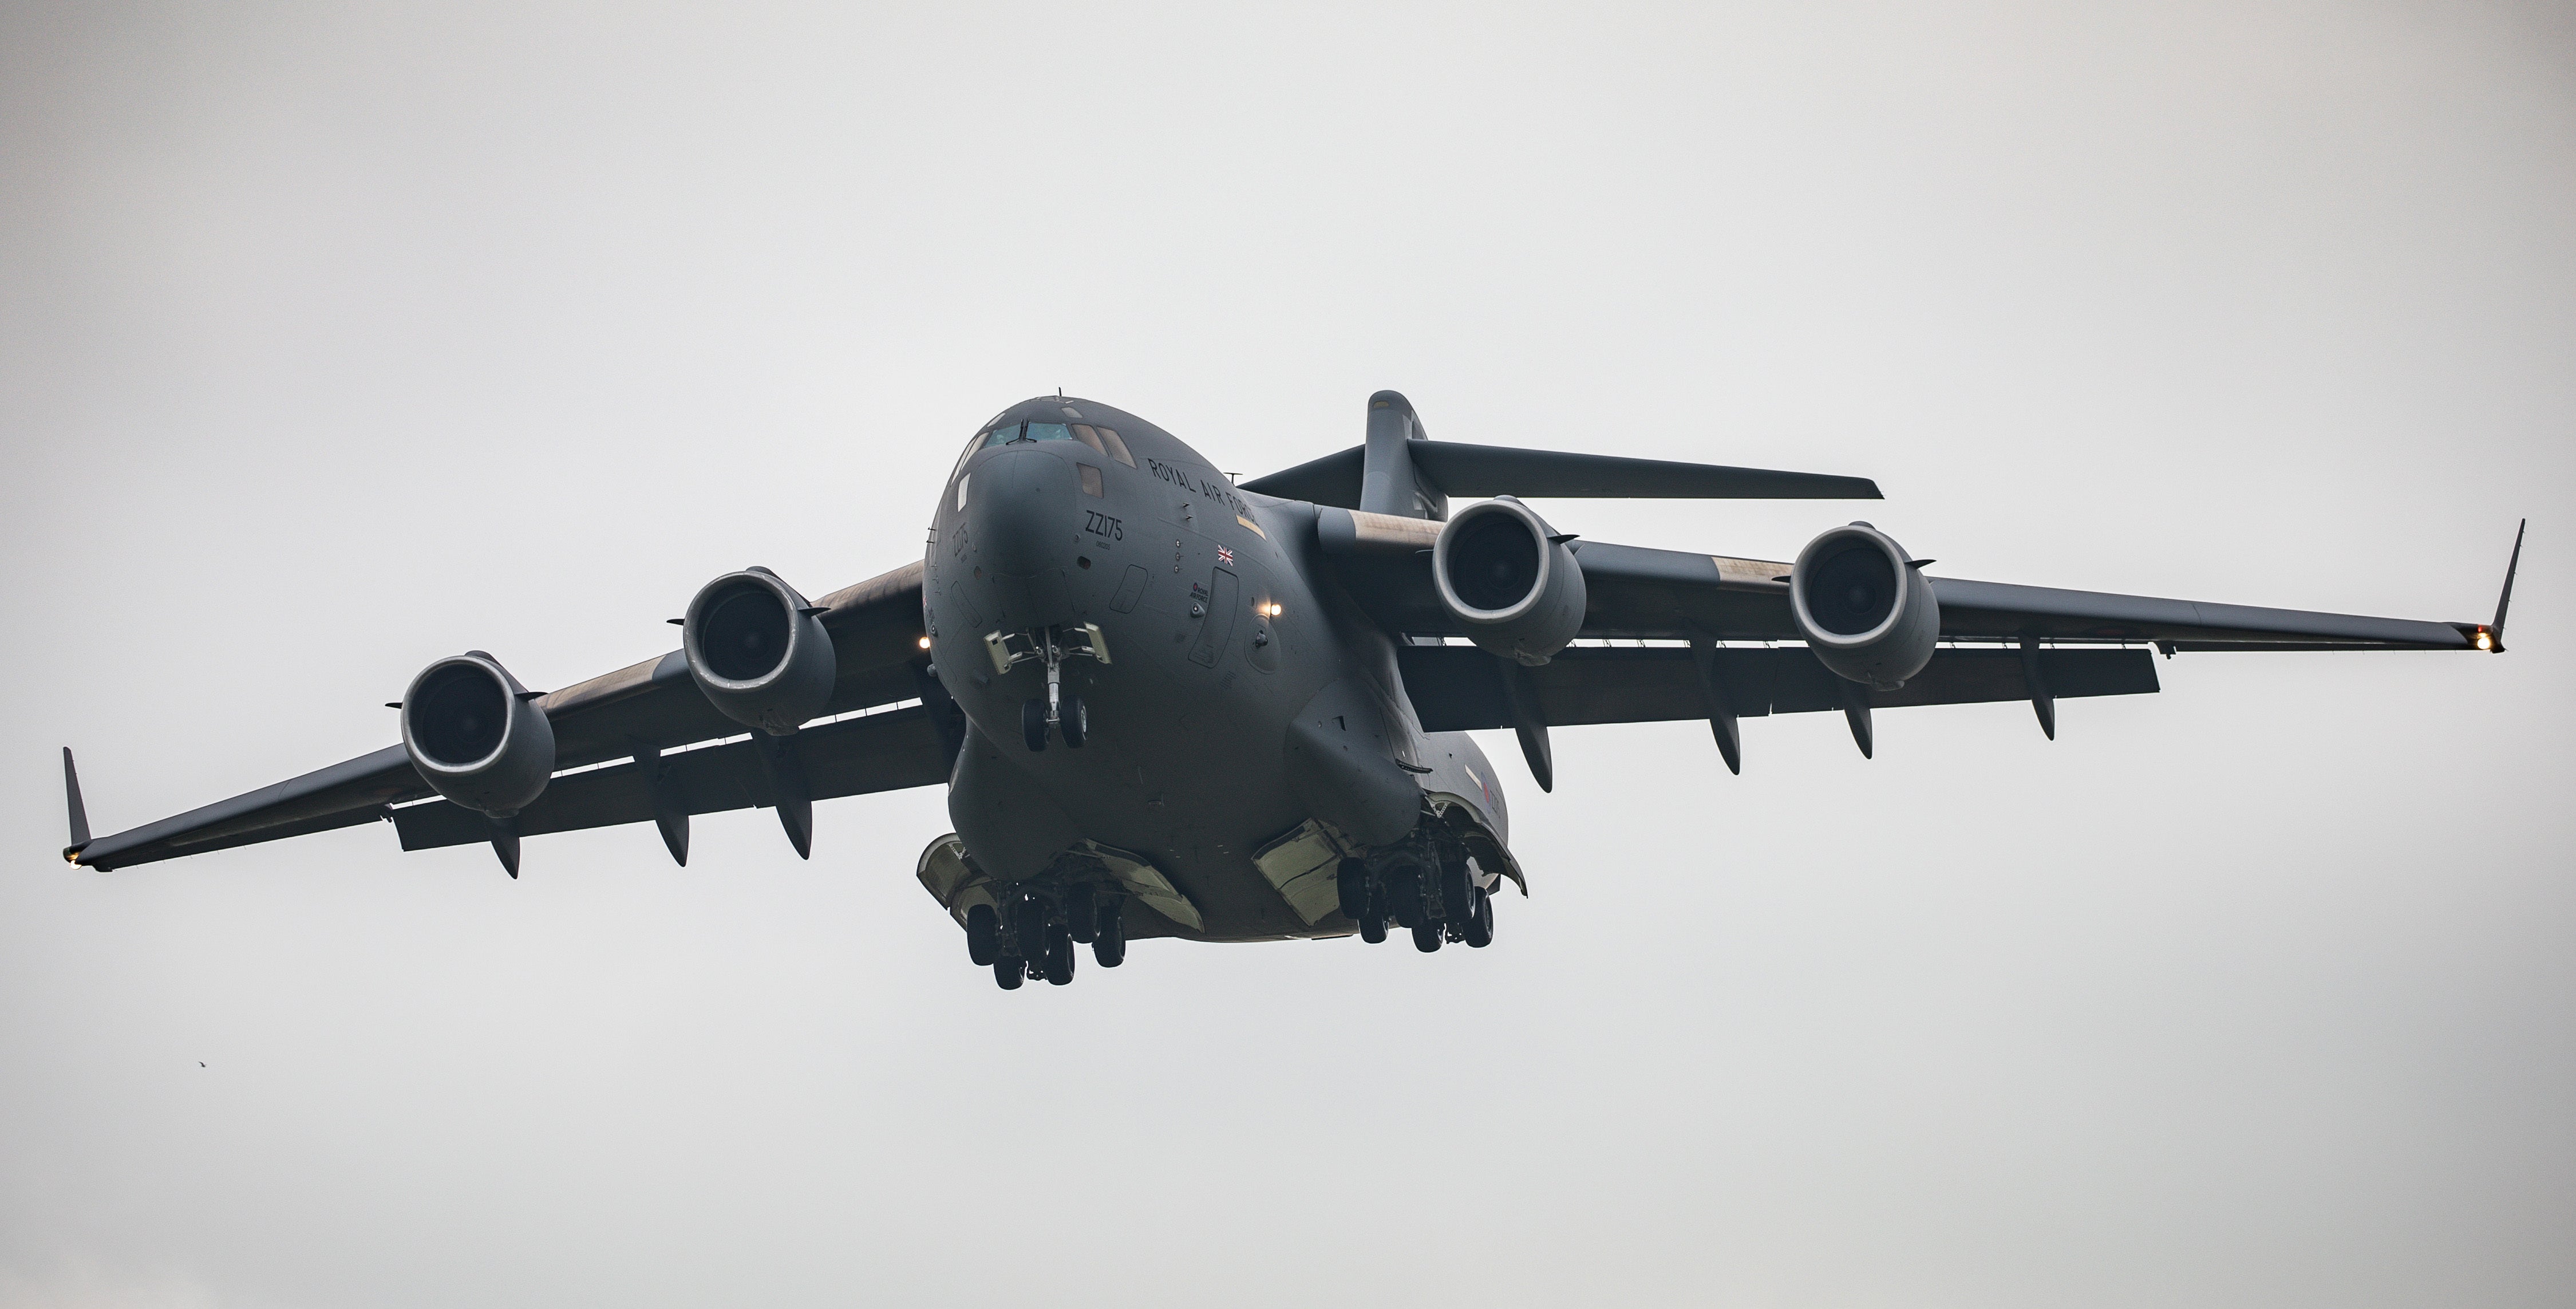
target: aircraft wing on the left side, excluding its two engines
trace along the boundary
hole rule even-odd
[[[796,734],[809,796],[829,799],[948,781],[961,740],[958,711],[927,675],[922,564],[817,600],[832,634],[837,678],[824,719]],[[902,701],[917,706],[886,709]],[[515,832],[564,832],[616,822],[683,817],[672,853],[685,855],[685,814],[770,807],[773,768],[760,742],[719,714],[670,654],[590,678],[536,698],[556,740],[556,781],[520,812]],[[64,752],[70,781],[70,752]],[[88,868],[124,868],[361,822],[392,819],[404,850],[492,840],[474,809],[435,799],[402,745],[335,763],[301,778],[88,840],[77,781],[72,848]],[[670,830],[665,827],[665,837]]]

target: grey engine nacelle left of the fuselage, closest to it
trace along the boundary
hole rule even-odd
[[[765,567],[726,572],[680,621],[688,675],[726,719],[786,737],[832,701],[832,634],[817,613]]]

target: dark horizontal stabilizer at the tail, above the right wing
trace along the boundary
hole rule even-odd
[[[1448,495],[1525,495],[1587,500],[1878,500],[1868,477],[1728,469],[1615,454],[1525,451],[1406,441],[1414,469]],[[1360,508],[1363,451],[1347,448],[1285,472],[1255,477],[1244,490],[1316,505]]]

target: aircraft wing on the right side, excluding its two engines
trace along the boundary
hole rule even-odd
[[[1610,541],[1569,544],[1587,590],[1577,642],[1592,644],[1571,644],[1538,667],[1512,665],[1461,642],[1466,629],[1432,582],[1437,531],[1440,523],[1337,508],[1316,515],[1319,544],[1352,598],[1409,639],[1399,665],[1422,727],[1512,727],[1540,786],[1551,783],[1548,727],[1708,719],[1726,763],[1739,768],[1734,721],[1765,714],[1842,709],[1868,752],[1870,709],[2030,701],[2053,737],[2058,698],[2156,691],[2151,649],[2501,652],[2514,572],[2506,564],[2494,624],[1927,577],[1942,644],[1901,688],[1878,691],[1834,675],[1803,647],[1790,564]],[[2514,562],[2519,554],[2517,536]]]

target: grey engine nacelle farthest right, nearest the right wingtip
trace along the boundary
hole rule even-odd
[[[1832,528],[1788,575],[1798,634],[1837,675],[1893,691],[1932,662],[1940,600],[1906,549],[1868,523]]]

